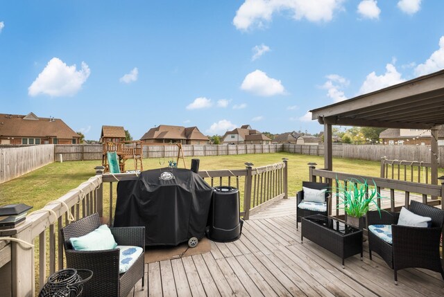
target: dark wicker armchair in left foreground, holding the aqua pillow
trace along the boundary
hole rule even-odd
[[[145,227],[110,228],[117,244],[144,249],[130,269],[119,274],[119,249],[75,251],[69,242],[69,238],[83,236],[99,226],[99,215],[94,213],[61,229],[67,267],[93,271],[91,280],[83,287],[83,296],[128,296],[141,278],[144,289]]]

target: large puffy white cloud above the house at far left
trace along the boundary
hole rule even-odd
[[[53,57],[28,87],[28,95],[74,96],[86,82],[89,73],[91,71],[85,62],[82,62],[82,69],[77,71],[76,64],[67,66],[58,57]]]

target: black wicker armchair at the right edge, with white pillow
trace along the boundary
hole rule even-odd
[[[376,210],[367,213],[368,226],[391,224],[393,244],[388,244],[372,232],[368,232],[368,249],[370,260],[372,252],[377,253],[393,269],[395,284],[398,284],[397,271],[404,268],[418,267],[441,273],[444,271],[439,256],[439,242],[443,231],[444,210],[411,201],[409,210],[416,215],[432,217],[432,227],[418,228],[398,226],[399,213]]]

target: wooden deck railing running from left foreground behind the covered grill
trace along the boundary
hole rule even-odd
[[[0,296],[34,296],[49,275],[65,267],[60,229],[71,221],[97,212],[104,224],[112,222],[117,188],[114,183],[136,179],[137,174],[103,174],[102,166],[96,168],[96,173],[28,214],[16,228],[0,230]],[[257,168],[246,163],[241,170],[202,170],[199,174],[211,186],[239,188],[244,219],[273,199],[287,198],[286,159]]]

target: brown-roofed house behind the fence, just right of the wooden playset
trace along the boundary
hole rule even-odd
[[[200,133],[197,127],[159,125],[148,130],[140,138],[144,143],[182,143],[183,145],[203,145],[210,138]]]

